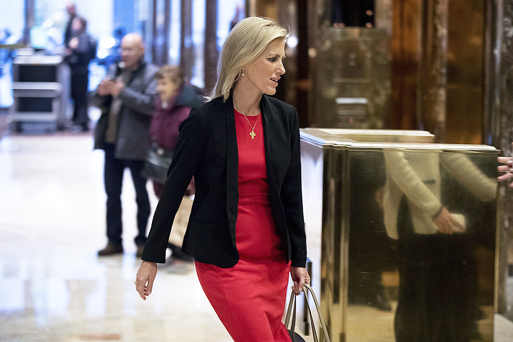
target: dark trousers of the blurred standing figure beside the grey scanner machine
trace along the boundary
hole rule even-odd
[[[71,70],[71,98],[73,99],[73,124],[79,125],[83,130],[89,129],[88,108],[88,79],[87,70]]]

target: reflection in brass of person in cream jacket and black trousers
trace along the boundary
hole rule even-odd
[[[483,207],[496,198],[495,179],[462,153],[384,156],[384,221],[399,266],[396,342],[480,340],[470,232],[483,227],[443,200],[441,166]]]

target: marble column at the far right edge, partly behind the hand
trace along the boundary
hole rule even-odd
[[[501,149],[501,155],[511,156],[513,142],[513,0],[487,1],[489,6],[485,58],[485,122],[483,139]],[[513,310],[507,303],[507,269],[513,265],[513,189],[507,183],[499,184],[497,198],[498,246],[496,274],[497,313],[513,319]]]

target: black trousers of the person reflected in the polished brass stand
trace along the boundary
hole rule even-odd
[[[469,342],[477,336],[475,259],[468,238],[413,232],[406,198],[398,214],[397,342]]]

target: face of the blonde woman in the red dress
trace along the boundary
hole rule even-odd
[[[244,76],[246,81],[267,95],[274,95],[278,80],[285,73],[283,59],[285,58],[285,42],[281,38],[271,41],[264,52],[253,62],[246,65]]]

